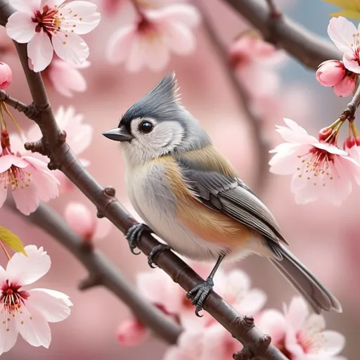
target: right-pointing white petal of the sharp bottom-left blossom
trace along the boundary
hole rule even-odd
[[[72,303],[67,295],[48,289],[32,289],[28,293],[27,304],[39,311],[49,323],[63,321],[70,315],[69,304],[71,306]]]

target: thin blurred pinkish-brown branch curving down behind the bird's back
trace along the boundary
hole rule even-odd
[[[269,161],[269,146],[266,143],[266,140],[263,136],[262,131],[262,119],[255,114],[252,110],[252,99],[250,98],[249,92],[243,84],[237,79],[236,73],[230,65],[229,58],[227,54],[229,51],[226,49],[224,44],[219,39],[217,32],[215,32],[214,27],[210,21],[209,16],[207,15],[207,11],[205,6],[203,6],[203,0],[198,1],[198,9],[203,15],[203,25],[207,32],[207,36],[209,37],[214,50],[217,52],[217,56],[221,61],[221,65],[224,68],[224,72],[229,79],[231,86],[233,87],[233,93],[238,98],[238,102],[243,105],[243,110],[245,112],[245,117],[250,124],[250,128],[252,131],[252,137],[255,143],[255,151],[257,152],[257,169],[255,170],[255,184],[253,184],[253,188],[257,193],[262,191],[266,181],[266,174],[268,169],[268,161]]]

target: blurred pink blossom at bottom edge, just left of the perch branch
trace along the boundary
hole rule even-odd
[[[164,360],[232,360],[241,349],[240,342],[216,323],[206,329],[184,330],[178,345],[169,347]]]

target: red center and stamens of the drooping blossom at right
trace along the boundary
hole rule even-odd
[[[314,186],[318,184],[318,179],[322,181],[323,186],[325,186],[327,179],[333,180],[333,168],[330,166],[334,162],[335,156],[333,154],[313,147],[309,153],[297,157],[302,159],[302,165],[297,167],[297,171],[300,172],[299,177],[304,176],[307,180],[314,181]]]

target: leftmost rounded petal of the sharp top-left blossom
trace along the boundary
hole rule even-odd
[[[6,33],[20,44],[29,42],[35,33],[36,23],[31,20],[31,14],[16,12],[10,15],[6,23]]]

